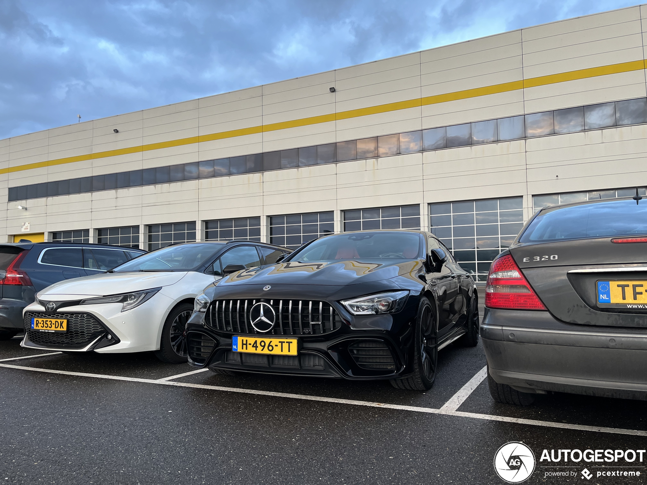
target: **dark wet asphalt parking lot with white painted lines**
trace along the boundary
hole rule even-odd
[[[501,484],[493,459],[510,441],[536,457],[526,483],[642,483],[647,473],[638,460],[540,461],[543,449],[645,449],[647,403],[553,394],[529,408],[496,404],[480,344],[442,350],[434,387],[419,393],[221,376],[148,353],[38,352],[20,339],[0,342],[4,484]],[[619,465],[641,476],[597,476]]]

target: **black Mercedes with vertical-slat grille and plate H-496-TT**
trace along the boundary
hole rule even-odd
[[[438,351],[479,335],[472,277],[428,232],[331,234],[276,264],[214,263],[195,300],[189,363],[238,371],[432,387]]]

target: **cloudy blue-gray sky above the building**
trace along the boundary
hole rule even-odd
[[[625,0],[0,0],[0,139]]]

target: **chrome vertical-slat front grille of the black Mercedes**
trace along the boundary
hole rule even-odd
[[[342,326],[342,319],[330,303],[315,300],[264,299],[261,305],[272,307],[265,318],[273,318],[274,326],[267,332],[258,332],[250,317],[252,307],[261,300],[230,299],[212,301],[204,321],[215,330],[237,334],[312,335],[328,334]],[[269,310],[269,308],[267,308]],[[257,325],[258,326],[258,325]],[[261,328],[261,330],[264,330]]]

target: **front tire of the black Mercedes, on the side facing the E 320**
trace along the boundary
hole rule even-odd
[[[422,297],[415,318],[413,374],[402,379],[391,379],[391,385],[408,391],[427,391],[432,388],[438,368],[438,329],[432,304]]]

